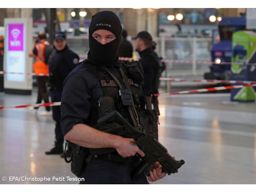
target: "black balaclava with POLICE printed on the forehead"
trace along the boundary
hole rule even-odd
[[[116,39],[101,44],[92,37],[94,31],[105,29],[112,32]],[[118,48],[122,39],[121,22],[112,11],[101,11],[92,16],[89,27],[89,47],[88,60],[98,66],[114,66],[118,62]]]

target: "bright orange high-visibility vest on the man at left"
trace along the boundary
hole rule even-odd
[[[49,67],[48,65],[44,62],[44,48],[45,45],[50,45],[47,41],[43,43],[37,43],[36,44],[36,50],[37,50],[37,55],[36,55],[36,61],[34,63],[34,72],[36,74],[44,74],[47,75],[49,74]]]

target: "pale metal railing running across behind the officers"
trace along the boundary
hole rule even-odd
[[[131,38],[128,38],[131,40]],[[196,61],[211,61],[211,38],[196,37],[156,37],[156,52],[159,56],[169,60],[191,60],[191,63],[166,63],[164,77],[196,76],[209,71],[209,64],[200,64]],[[89,40],[87,36],[68,36],[68,46],[78,54],[87,54]],[[134,41],[131,41],[134,47]],[[138,54],[137,54],[138,55]]]

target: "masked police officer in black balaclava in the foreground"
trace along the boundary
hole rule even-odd
[[[152,163],[152,169],[149,167],[150,172],[132,177],[144,152],[132,138],[97,124],[100,117],[117,110],[131,124],[138,125],[140,118],[134,118],[134,114],[145,111],[141,87],[143,70],[139,62],[118,61],[121,34],[122,26],[115,13],[102,11],[92,16],[88,59],[79,63],[64,82],[61,127],[64,138],[80,146],[71,156],[71,171],[84,178],[81,184],[148,184],[148,180],[156,181],[166,175],[162,165],[156,162]],[[148,131],[157,137],[157,122],[154,124],[154,128],[147,124],[143,129],[150,129]],[[77,155],[82,156],[87,150],[86,160],[75,164],[80,158]]]

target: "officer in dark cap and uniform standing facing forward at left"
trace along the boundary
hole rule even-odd
[[[49,86],[51,87],[52,102],[60,102],[63,82],[78,64],[79,57],[68,48],[66,35],[63,32],[54,34],[53,45],[55,50],[49,58]],[[70,99],[72,100],[72,98]],[[60,125],[60,106],[52,106],[52,117],[55,121],[55,146],[45,154],[63,154],[64,138]],[[67,154],[70,156],[71,149],[68,149]]]

